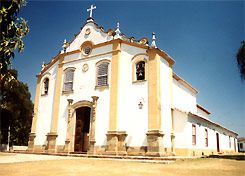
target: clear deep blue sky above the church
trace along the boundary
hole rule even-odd
[[[25,50],[13,67],[35,97],[36,75],[72,40],[97,6],[95,22],[136,39],[156,32],[157,46],[174,60],[174,71],[198,89],[197,102],[211,119],[245,136],[245,82],[236,52],[245,39],[244,1],[29,1],[19,16],[29,24]]]

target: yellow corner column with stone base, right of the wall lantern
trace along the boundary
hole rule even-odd
[[[148,62],[148,132],[147,155],[163,155],[163,132],[161,131],[161,82],[160,56],[156,48],[147,50]]]

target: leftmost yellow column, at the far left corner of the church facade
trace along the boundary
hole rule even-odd
[[[37,76],[35,102],[34,102],[34,114],[32,117],[31,133],[29,134],[28,149],[27,149],[27,151],[29,151],[29,152],[34,151],[34,139],[36,137],[39,97],[41,96],[40,91],[41,91],[41,76],[38,75]]]

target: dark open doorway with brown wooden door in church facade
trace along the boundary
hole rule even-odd
[[[86,153],[88,151],[90,112],[90,107],[76,109],[74,152]]]

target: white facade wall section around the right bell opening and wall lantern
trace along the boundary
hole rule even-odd
[[[144,49],[121,45],[119,69],[118,130],[126,131],[128,146],[146,146],[148,131],[148,82],[133,83],[132,58]],[[145,56],[144,56],[145,57]],[[143,108],[139,109],[142,101]]]

